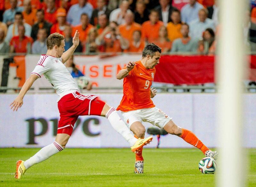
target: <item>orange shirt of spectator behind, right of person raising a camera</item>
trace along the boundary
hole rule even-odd
[[[119,26],[120,34],[123,38],[127,40],[132,40],[132,34],[134,31],[140,31],[141,26],[138,23],[133,22],[131,26],[127,26],[126,24]]]

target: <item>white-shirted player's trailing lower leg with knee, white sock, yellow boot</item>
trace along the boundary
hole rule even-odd
[[[21,176],[25,174],[26,170],[28,170],[28,168],[42,161],[45,161],[52,155],[62,151],[68,143],[69,138],[70,136],[68,134],[57,134],[55,141],[52,144],[43,147],[34,156],[30,157],[26,161],[17,161],[15,178],[20,179]]]

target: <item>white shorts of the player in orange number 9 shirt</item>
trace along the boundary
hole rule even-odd
[[[143,108],[138,110],[132,110],[129,112],[121,112],[124,117],[124,122],[130,129],[132,123],[149,122],[159,128],[164,128],[164,125],[168,123],[172,118],[167,116],[161,109],[156,107]]]

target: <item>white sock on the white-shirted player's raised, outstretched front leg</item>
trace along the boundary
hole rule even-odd
[[[128,129],[128,127],[125,125],[124,121],[121,120],[121,118],[118,116],[116,109],[114,107],[110,108],[106,114],[106,118],[108,118],[108,121],[112,125],[112,127],[121,134],[126,141],[130,144],[130,146],[133,146],[135,142],[138,140],[136,139],[131,131]]]

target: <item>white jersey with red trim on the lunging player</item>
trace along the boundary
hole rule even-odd
[[[41,55],[35,69],[31,74],[36,74],[41,78],[44,74],[45,78],[52,84],[60,100],[64,95],[80,92],[77,84],[66,66],[60,61],[60,58]]]

